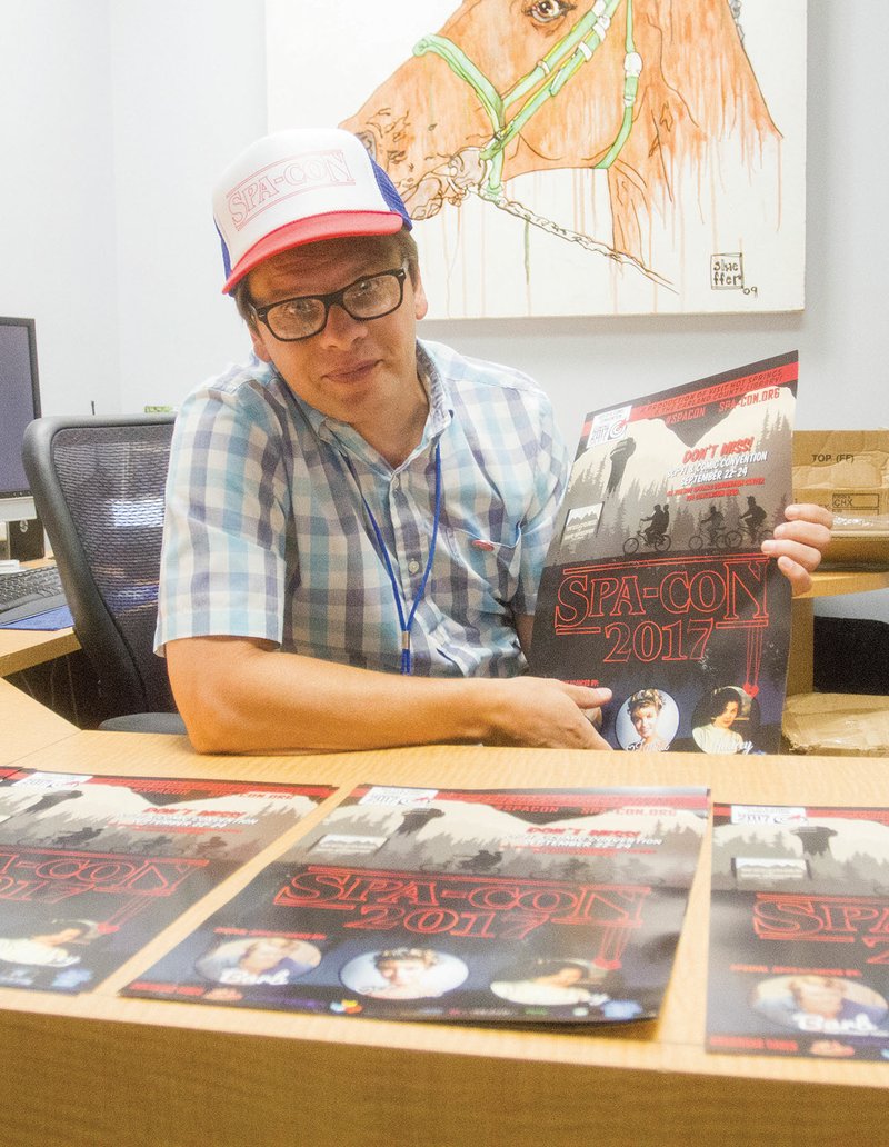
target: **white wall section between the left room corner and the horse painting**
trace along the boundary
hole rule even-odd
[[[111,0],[123,408],[178,405],[243,353],[210,205],[266,130],[263,0]]]

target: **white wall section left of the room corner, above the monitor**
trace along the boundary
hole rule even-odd
[[[47,413],[119,401],[108,3],[2,0],[0,313],[37,323]]]

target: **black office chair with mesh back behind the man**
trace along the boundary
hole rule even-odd
[[[22,458],[75,632],[99,679],[100,728],[185,733],[153,651],[173,415],[42,418]]]

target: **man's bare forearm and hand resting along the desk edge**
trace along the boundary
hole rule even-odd
[[[474,741],[601,747],[583,716],[601,697],[559,681],[401,677],[237,638],[174,641],[166,655],[177,703],[201,752]]]

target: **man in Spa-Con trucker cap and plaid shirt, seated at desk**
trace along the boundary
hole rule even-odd
[[[255,359],[189,396],[171,454],[157,643],[195,747],[607,748],[608,689],[523,676],[568,469],[548,400],[418,343],[388,177],[284,132],[215,208]],[[797,517],[773,552],[805,588],[829,535]]]

